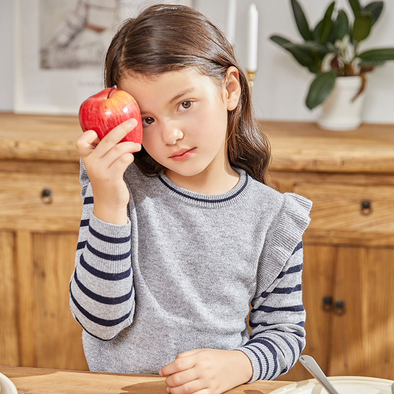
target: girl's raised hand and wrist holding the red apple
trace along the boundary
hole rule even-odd
[[[93,189],[93,213],[104,222],[127,224],[130,193],[123,174],[134,161],[132,152],[138,152],[141,144],[119,141],[136,126],[137,121],[129,119],[116,126],[101,141],[93,130],[85,131],[76,139],[78,153]]]

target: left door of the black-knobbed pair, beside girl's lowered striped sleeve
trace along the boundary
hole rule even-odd
[[[302,291],[306,310],[306,346],[302,353],[315,358],[326,372],[331,345],[331,314],[324,310],[323,300],[332,294],[336,248],[304,244],[303,251]],[[310,373],[297,361],[296,365],[279,380],[299,381],[310,378]]]

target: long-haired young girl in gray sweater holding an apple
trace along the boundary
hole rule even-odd
[[[229,43],[196,10],[154,5],[113,38],[105,83],[137,100],[144,130],[142,147],[118,143],[134,119],[76,142],[70,306],[89,368],[160,374],[172,394],[286,373],[305,345],[311,202],[266,185],[269,144]]]

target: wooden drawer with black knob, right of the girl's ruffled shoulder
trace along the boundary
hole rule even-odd
[[[313,201],[307,237],[335,243],[394,243],[394,186],[300,183]]]

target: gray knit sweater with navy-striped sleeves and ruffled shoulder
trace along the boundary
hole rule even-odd
[[[190,349],[238,349],[253,378],[286,373],[305,346],[302,234],[311,202],[244,170],[222,195],[201,195],[131,164],[129,223],[83,210],[70,307],[93,371],[157,374]],[[252,305],[249,323],[249,305]]]

